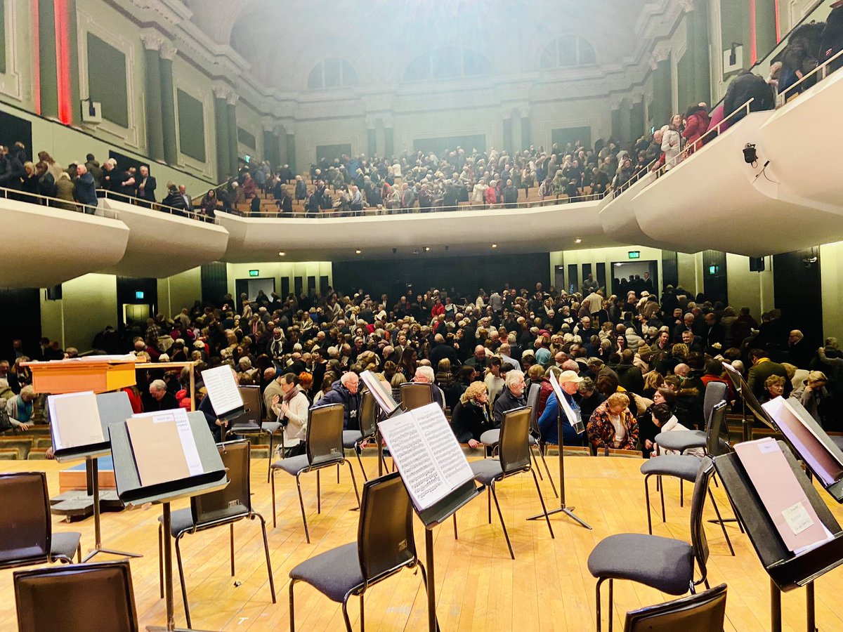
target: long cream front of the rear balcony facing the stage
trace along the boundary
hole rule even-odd
[[[228,230],[225,260],[348,260],[404,258],[429,247],[430,256],[540,252],[615,245],[599,219],[602,200],[484,211],[412,212],[361,217],[240,217],[217,212]],[[357,250],[361,250],[357,254]]]

